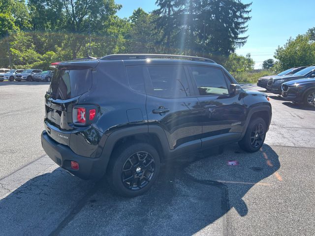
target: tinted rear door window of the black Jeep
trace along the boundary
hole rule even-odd
[[[150,89],[148,93],[163,98],[190,95],[185,70],[182,66],[147,66]]]

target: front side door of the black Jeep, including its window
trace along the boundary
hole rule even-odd
[[[245,107],[242,93],[232,95],[232,83],[224,70],[212,66],[188,66],[200,103],[202,147],[236,140],[244,127]]]

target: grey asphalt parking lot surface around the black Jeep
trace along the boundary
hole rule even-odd
[[[269,94],[273,118],[260,151],[232,144],[173,161],[148,193],[127,199],[45,155],[47,88],[0,83],[1,236],[315,235],[314,109]]]

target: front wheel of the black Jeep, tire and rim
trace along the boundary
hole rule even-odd
[[[248,152],[258,151],[263,145],[267,132],[267,125],[263,118],[250,121],[243,139],[238,142],[240,148]]]

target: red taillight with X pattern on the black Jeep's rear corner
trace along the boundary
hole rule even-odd
[[[74,107],[72,110],[72,121],[74,124],[89,125],[95,119],[96,113],[94,105]]]

